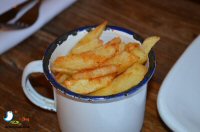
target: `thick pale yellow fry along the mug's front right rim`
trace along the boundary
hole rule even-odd
[[[124,73],[117,76],[108,86],[99,89],[91,96],[107,96],[124,92],[136,86],[145,76],[147,68],[139,63],[133,64]]]

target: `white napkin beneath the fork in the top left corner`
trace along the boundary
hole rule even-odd
[[[21,3],[22,1],[24,0],[16,0],[15,2]],[[11,31],[0,30],[0,54],[22,42],[75,1],[76,0],[44,0],[40,5],[39,17],[31,27]],[[13,6],[14,3],[13,0],[3,0],[0,4],[0,14],[8,10],[8,8],[5,8],[5,4]]]

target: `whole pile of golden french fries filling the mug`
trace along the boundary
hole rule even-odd
[[[144,65],[151,48],[159,41],[152,36],[143,44],[124,43],[115,37],[100,40],[107,22],[86,34],[66,56],[52,64],[56,80],[67,89],[91,96],[117,94],[136,86],[147,73]]]

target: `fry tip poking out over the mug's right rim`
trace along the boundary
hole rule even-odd
[[[144,40],[141,47],[144,49],[144,52],[148,55],[152,47],[160,40],[158,36],[148,37]]]

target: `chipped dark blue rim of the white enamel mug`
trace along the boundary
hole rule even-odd
[[[95,26],[85,26],[85,27],[81,27],[78,29],[75,29],[73,31],[70,31],[64,35],[62,35],[61,37],[59,37],[58,39],[56,39],[52,44],[49,45],[49,47],[46,49],[44,56],[43,56],[43,70],[44,70],[44,74],[46,76],[46,78],[50,81],[50,83],[60,92],[62,92],[63,94],[67,95],[68,97],[72,98],[72,99],[76,99],[76,100],[80,100],[80,101],[86,101],[86,102],[103,102],[103,101],[115,101],[115,100],[119,100],[121,98],[125,98],[128,97],[130,95],[133,95],[134,93],[136,93],[144,84],[148,83],[148,81],[151,79],[151,77],[153,76],[154,72],[155,72],[155,67],[156,67],[156,60],[155,60],[155,54],[154,52],[151,50],[148,58],[149,58],[149,68],[148,68],[148,72],[146,73],[144,79],[136,86],[118,93],[118,94],[114,94],[114,95],[109,95],[109,96],[88,96],[88,95],[81,95],[78,93],[74,93],[70,90],[68,90],[67,88],[63,87],[60,83],[58,83],[55,78],[54,75],[52,74],[52,72],[50,71],[49,68],[49,60],[51,58],[52,53],[54,52],[54,50],[56,49],[57,45],[61,45],[65,40],[67,40],[67,37],[69,35],[76,35],[77,32],[79,31],[83,31],[83,30],[87,30],[90,31],[91,29],[95,28]],[[122,28],[122,27],[117,27],[117,26],[107,26],[105,30],[107,29],[113,29],[113,30],[118,30],[121,32],[125,32],[129,35],[132,35],[134,37],[134,39],[140,41],[141,43],[143,42],[143,38],[140,37],[138,34]]]

